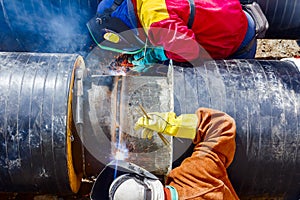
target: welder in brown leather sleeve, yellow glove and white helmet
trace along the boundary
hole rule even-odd
[[[195,114],[153,112],[135,124],[143,135],[162,133],[190,138],[193,153],[167,175],[162,184],[145,169],[125,161],[114,161],[99,174],[91,199],[184,200],[239,199],[227,175],[235,153],[236,125],[224,112],[199,108]]]

